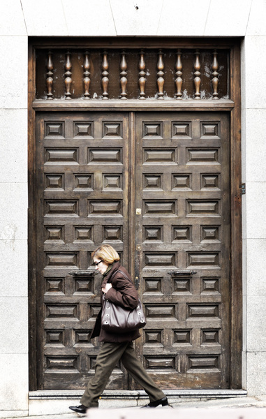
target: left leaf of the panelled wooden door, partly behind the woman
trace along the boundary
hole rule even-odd
[[[91,251],[112,243],[128,265],[128,114],[43,113],[36,126],[38,388],[84,388],[98,353]],[[111,388],[128,388],[121,369]]]

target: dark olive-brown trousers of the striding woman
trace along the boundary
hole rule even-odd
[[[120,359],[128,373],[147,392],[151,402],[165,397],[136,357],[132,341],[120,344],[104,342],[96,359],[95,375],[89,379],[87,388],[80,400],[81,404],[87,407],[98,407],[98,398],[105,389],[112,370]]]

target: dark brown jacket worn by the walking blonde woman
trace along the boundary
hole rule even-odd
[[[126,274],[126,279],[123,274],[117,271],[122,271]],[[108,290],[105,297],[121,307],[128,309],[135,309],[138,306],[138,291],[135,289],[133,282],[129,279],[130,275],[119,262],[114,262],[110,271],[103,277],[101,288],[104,288],[107,282],[112,284],[112,288]],[[101,291],[101,304],[103,304],[103,292]],[[91,333],[91,339],[99,336],[99,341],[119,343],[138,339],[140,337],[139,330],[134,330],[130,333],[109,333],[101,329],[101,313],[100,310],[94,329]]]

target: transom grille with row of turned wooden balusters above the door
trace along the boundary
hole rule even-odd
[[[228,99],[230,50],[39,49],[36,99]]]

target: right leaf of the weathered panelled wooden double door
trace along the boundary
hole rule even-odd
[[[135,125],[138,350],[162,388],[228,388],[228,116],[147,112]]]

